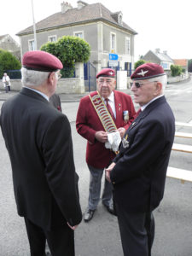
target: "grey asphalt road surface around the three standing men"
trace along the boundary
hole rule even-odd
[[[168,84],[166,98],[177,121],[192,122],[192,82]],[[0,102],[0,108],[2,106]],[[71,123],[76,170],[82,210],[87,206],[89,172],[85,164],[85,140],[75,130],[79,102],[62,102],[63,113]],[[177,127],[177,131],[192,132],[192,128]],[[177,143],[192,144],[190,139]],[[29,246],[23,218],[16,213],[9,155],[0,133],[0,256],[29,256]],[[172,152],[170,166],[192,171],[192,155]],[[154,211],[155,239],[153,256],[192,256],[192,183],[180,183],[167,178],[164,199]],[[75,231],[77,256],[123,255],[117,218],[100,203],[90,223],[84,221]],[[142,255],[141,255],[142,256]]]

